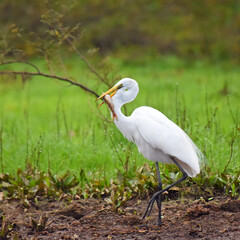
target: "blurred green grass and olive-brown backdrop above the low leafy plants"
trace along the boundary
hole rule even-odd
[[[136,79],[140,93],[128,115],[141,105],[162,111],[206,156],[212,173],[206,179],[225,186],[229,180],[217,173],[229,179],[230,169],[239,187],[240,1],[1,0],[0,13],[0,61],[30,59],[98,94],[120,76]],[[20,64],[3,69],[34,71]],[[95,97],[52,79],[27,80],[0,78],[2,172],[30,161],[54,173],[84,170],[109,179],[146,162],[111,124],[106,107],[100,114]]]

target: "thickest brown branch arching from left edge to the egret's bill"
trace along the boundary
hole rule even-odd
[[[28,76],[42,76],[42,77],[46,77],[46,78],[54,78],[54,79],[57,79],[57,80],[60,80],[60,81],[68,82],[71,85],[78,86],[78,87],[82,88],[83,90],[85,90],[86,92],[89,92],[89,93],[95,95],[96,97],[99,97],[99,95],[96,92],[94,92],[93,90],[85,87],[84,85],[82,85],[80,83],[74,82],[74,81],[70,80],[69,78],[63,78],[63,77],[59,77],[59,76],[56,76],[56,75],[46,74],[46,73],[42,73],[40,71],[38,71],[38,72],[0,71],[0,75],[11,75],[11,74],[14,74],[14,75],[28,75]]]

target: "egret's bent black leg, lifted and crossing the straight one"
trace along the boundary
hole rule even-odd
[[[178,164],[178,162],[175,160],[175,158],[174,158],[174,157],[171,157],[171,156],[170,156],[170,158],[171,158],[171,160],[178,166],[178,168],[181,170],[181,172],[183,173],[183,176],[182,176],[182,178],[180,178],[179,180],[177,180],[175,183],[169,185],[168,187],[164,188],[164,189],[161,190],[161,191],[156,192],[156,193],[152,196],[152,198],[151,198],[151,199],[149,200],[149,202],[148,202],[147,209],[146,209],[146,211],[145,211],[145,213],[144,213],[144,215],[143,215],[143,217],[142,217],[143,219],[144,219],[146,216],[150,216],[150,214],[151,214],[151,212],[152,212],[153,204],[154,204],[155,200],[157,201],[158,196],[161,196],[163,192],[168,191],[171,187],[173,187],[173,186],[175,186],[176,184],[182,182],[183,180],[185,180],[185,179],[188,177],[187,173],[186,173],[186,172],[183,170],[183,168]]]

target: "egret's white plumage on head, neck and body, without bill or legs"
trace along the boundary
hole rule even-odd
[[[117,118],[114,123],[129,141],[134,142],[139,152],[154,162],[173,163],[175,157],[188,176],[200,172],[201,153],[188,135],[164,114],[151,107],[139,107],[131,116],[121,112],[125,103],[135,99],[139,92],[135,80],[124,78],[115,87],[119,89],[112,96]]]

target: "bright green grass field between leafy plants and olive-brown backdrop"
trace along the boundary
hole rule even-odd
[[[139,83],[139,95],[127,105],[128,114],[141,105],[152,106],[189,134],[213,172],[222,171],[230,157],[228,168],[239,168],[239,123],[237,130],[231,114],[237,121],[239,67],[185,62],[175,57],[111,61],[122,77]],[[44,67],[41,61],[37,64]],[[66,67],[69,75],[98,93],[107,90],[80,60],[67,60]],[[60,69],[56,71],[64,76]],[[51,79],[35,77],[24,86],[20,79],[0,79],[1,171],[15,174],[17,168],[23,169],[30,161],[43,170],[50,167],[57,174],[69,170],[78,176],[84,169],[88,176],[110,179],[117,169],[124,170],[128,158],[130,166],[142,166],[147,160],[113,123],[103,120],[94,100],[77,87]],[[100,111],[110,120],[106,106]]]

